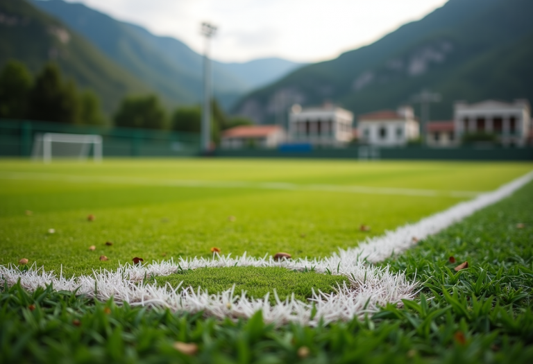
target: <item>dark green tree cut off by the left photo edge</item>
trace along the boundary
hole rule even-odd
[[[32,77],[21,62],[9,61],[0,73],[0,118],[24,119]]]

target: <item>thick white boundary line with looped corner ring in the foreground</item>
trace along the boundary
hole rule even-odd
[[[403,299],[412,299],[416,294],[416,281],[407,281],[403,272],[393,273],[389,267],[379,268],[371,265],[383,261],[394,254],[399,254],[415,244],[416,239],[424,239],[442,229],[456,223],[475,211],[487,207],[505,198],[517,189],[533,180],[533,172],[524,175],[496,191],[484,193],[477,198],[460,202],[459,204],[423,218],[418,223],[398,227],[384,236],[367,239],[355,248],[339,250],[325,259],[296,259],[274,261],[272,257],[232,258],[228,256],[213,257],[213,259],[182,259],[178,261],[162,261],[147,263],[144,266],[121,266],[117,271],[94,271],[93,275],[81,277],[59,277],[53,272],[45,272],[34,264],[30,270],[21,271],[15,266],[0,266],[0,277],[8,285],[20,282],[24,288],[33,291],[38,286],[53,284],[56,290],[74,291],[94,297],[97,300],[113,298],[116,302],[128,302],[132,306],[162,306],[174,311],[199,312],[217,318],[248,318],[253,313],[262,310],[267,322],[301,322],[316,325],[319,320],[332,322],[350,320],[365,313],[375,313],[380,306],[387,303],[401,304]],[[316,272],[332,272],[344,275],[349,284],[337,289],[336,293],[323,294],[317,292],[310,302],[301,302],[294,297],[285,301],[277,300],[276,304],[269,304],[269,297],[251,300],[244,293],[235,293],[232,289],[209,295],[198,288],[170,286],[158,287],[155,284],[144,284],[144,277],[151,275],[170,275],[180,270],[202,267],[283,267],[287,269],[312,269]]]

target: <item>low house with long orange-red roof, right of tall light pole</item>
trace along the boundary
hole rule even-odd
[[[221,146],[226,149],[276,148],[286,137],[285,130],[278,125],[243,125],[224,130]]]

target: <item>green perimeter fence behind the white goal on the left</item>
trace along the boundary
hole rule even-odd
[[[0,156],[31,156],[35,138],[47,132],[101,135],[105,157],[185,157],[200,152],[196,133],[1,119]]]

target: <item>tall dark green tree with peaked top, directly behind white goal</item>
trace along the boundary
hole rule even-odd
[[[55,64],[46,64],[35,78],[28,116],[34,120],[78,123],[80,102],[73,81],[62,83]]]

